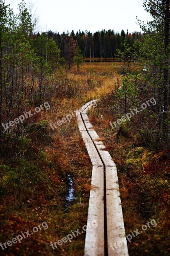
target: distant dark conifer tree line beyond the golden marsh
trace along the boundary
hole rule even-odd
[[[117,49],[123,50],[123,43],[126,40],[127,44],[130,47],[133,47],[133,44],[136,40],[142,40],[141,32],[125,33],[122,29],[121,34],[119,32],[114,32],[114,30],[105,29],[102,31],[97,31],[91,33],[88,31],[77,32],[76,34],[72,30],[71,34],[68,32],[63,32],[62,34],[52,32],[43,32],[41,34],[42,41],[49,40],[50,38],[54,39],[57,43],[61,57],[65,57],[65,45],[68,44],[69,38],[73,38],[77,41],[79,49],[81,49],[82,55],[84,58],[115,58],[117,54]],[[40,39],[40,33],[34,34],[35,38]],[[44,37],[44,38],[43,38]],[[39,54],[39,52],[37,52]]]

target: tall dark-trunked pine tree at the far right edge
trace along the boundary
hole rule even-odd
[[[156,38],[159,42],[159,55],[161,60],[159,65],[159,79],[161,87],[161,99],[159,102],[160,116],[162,116],[162,126],[164,140],[168,141],[168,108],[170,106],[170,0],[146,0],[144,8],[153,17],[153,21],[147,23],[147,26],[141,24],[141,28]]]

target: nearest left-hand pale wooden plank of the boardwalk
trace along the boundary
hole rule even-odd
[[[103,167],[93,166],[91,177],[91,192],[88,207],[87,226],[91,226],[86,231],[85,256],[104,256],[104,186]],[[97,227],[91,223],[96,221]]]

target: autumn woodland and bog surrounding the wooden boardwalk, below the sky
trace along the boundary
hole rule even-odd
[[[170,255],[170,0],[143,7],[153,20],[137,20],[142,32],[37,32],[24,0],[17,14],[0,0],[0,255],[84,255],[85,233],[50,246],[86,224],[92,172],[76,114],[52,124],[93,99],[88,116],[117,166],[126,234],[157,223],[129,255]]]

